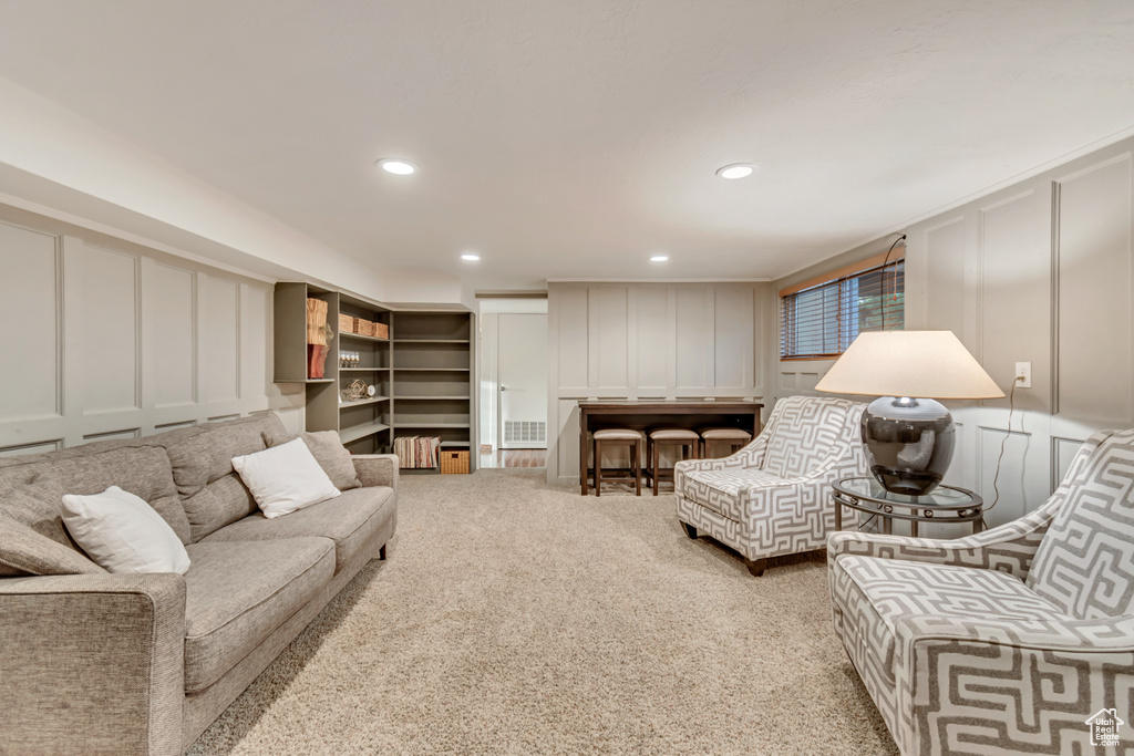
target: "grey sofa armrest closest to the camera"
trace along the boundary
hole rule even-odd
[[[0,580],[0,753],[181,754],[185,578]]]

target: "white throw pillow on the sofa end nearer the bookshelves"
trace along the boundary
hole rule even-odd
[[[232,467],[271,519],[333,499],[341,492],[327,477],[303,439],[254,455],[234,457]]]

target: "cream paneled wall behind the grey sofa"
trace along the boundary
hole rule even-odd
[[[271,284],[0,206],[0,455],[274,409]]]

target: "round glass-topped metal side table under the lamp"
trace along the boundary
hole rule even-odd
[[[831,484],[835,529],[843,529],[843,508],[849,507],[882,521],[882,533],[894,532],[894,520],[908,520],[909,534],[917,537],[919,523],[972,523],[973,533],[984,528],[984,501],[972,491],[939,485],[921,496],[891,493],[872,477],[843,478]]]

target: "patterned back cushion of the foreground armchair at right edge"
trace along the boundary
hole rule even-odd
[[[1103,431],[1086,445],[1095,449],[1068,473],[1027,584],[1073,617],[1134,614],[1134,431]]]

